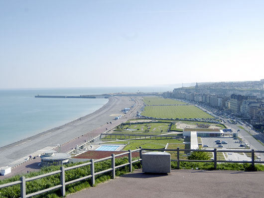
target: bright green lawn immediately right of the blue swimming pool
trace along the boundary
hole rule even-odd
[[[153,148],[161,149],[165,148],[167,143],[182,143],[183,139],[141,139],[141,140],[125,140],[125,141],[116,141],[109,142],[107,144],[128,144],[124,150],[128,151],[129,149],[134,150],[141,146],[142,148]]]

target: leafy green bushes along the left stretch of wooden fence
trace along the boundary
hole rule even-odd
[[[128,157],[116,159],[116,166],[125,164],[125,163],[128,163]],[[65,167],[75,166],[78,164],[82,164],[82,163],[69,164],[69,165],[66,165]],[[140,162],[133,164],[133,170],[138,169],[140,167],[141,167]],[[111,168],[111,160],[106,160],[106,161],[95,163],[95,172],[99,172],[99,171],[106,170],[109,168]],[[0,181],[0,185],[17,181],[19,180],[21,176],[25,176],[26,178],[31,178],[31,177],[42,175],[45,173],[57,171],[59,169],[60,169],[60,166],[45,167],[45,168],[42,168],[41,171],[38,171],[38,172],[31,172],[28,174],[16,175],[9,179],[2,180]],[[129,172],[129,166],[122,167],[122,168],[116,169],[116,176],[120,176],[128,172]],[[77,169],[73,169],[73,170],[69,170],[69,171],[65,171],[65,182],[75,180],[75,179],[78,179],[78,178],[81,178],[87,175],[90,175],[90,165],[77,168]],[[99,184],[99,183],[105,182],[110,179],[111,179],[111,172],[108,172],[108,173],[96,176],[95,183]],[[87,179],[81,182],[67,185],[66,194],[74,193],[82,189],[91,187],[90,181],[91,179]],[[60,184],[60,174],[48,176],[45,178],[30,181],[30,182],[26,182],[26,194],[31,194],[37,191],[48,189],[50,187],[53,187],[59,184]],[[19,198],[19,197],[20,197],[20,185],[14,185],[11,187],[0,189],[0,198]],[[58,197],[60,197],[59,189],[35,196],[34,198],[58,198]]]

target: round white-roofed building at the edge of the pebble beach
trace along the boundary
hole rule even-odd
[[[68,164],[71,154],[57,153],[57,151],[46,151],[44,155],[41,155],[41,166],[51,165],[63,165]]]

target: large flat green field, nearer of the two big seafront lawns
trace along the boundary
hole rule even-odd
[[[157,118],[214,118],[193,105],[146,106],[141,115]]]

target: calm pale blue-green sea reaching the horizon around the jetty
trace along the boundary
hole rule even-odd
[[[0,147],[68,123],[101,108],[108,99],[44,99],[121,92],[166,92],[172,88],[69,88],[0,90]]]

